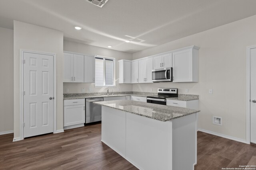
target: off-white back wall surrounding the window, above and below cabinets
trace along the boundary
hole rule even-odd
[[[82,93],[82,88],[85,88],[85,92],[89,92],[89,88],[92,90],[91,92],[106,92],[107,89],[111,92],[112,88],[114,88],[114,92],[120,89],[120,92],[130,92],[132,91],[132,84],[119,84],[119,73],[118,73],[118,60],[121,59],[132,59],[131,53],[125,53],[121,51],[105,49],[101,47],[95,47],[92,45],[85,45],[82,43],[76,43],[72,41],[64,41],[64,51],[71,51],[75,53],[82,53],[86,55],[101,55],[105,57],[114,57],[116,59],[116,86],[114,87],[95,87],[94,83],[63,83],[63,93]],[[66,89],[69,89],[69,92],[66,92]]]

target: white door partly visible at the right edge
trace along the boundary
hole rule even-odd
[[[250,141],[256,143],[256,48],[250,50],[250,60],[251,60],[251,84],[250,84],[250,125],[251,134]]]

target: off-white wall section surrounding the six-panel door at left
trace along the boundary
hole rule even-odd
[[[14,138],[20,137],[20,49],[57,55],[57,130],[63,129],[63,32],[14,21]]]

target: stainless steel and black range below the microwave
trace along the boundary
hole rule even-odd
[[[178,88],[158,88],[157,96],[148,96],[147,103],[166,105],[166,98],[178,97]]]

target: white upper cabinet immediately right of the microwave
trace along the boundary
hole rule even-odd
[[[173,82],[198,82],[198,47],[172,53]]]

